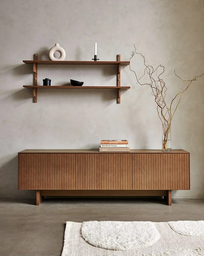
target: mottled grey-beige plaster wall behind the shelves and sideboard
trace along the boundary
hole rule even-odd
[[[204,72],[204,2],[198,0],[8,0],[0,9],[0,196],[32,197],[17,190],[17,152],[23,149],[98,148],[101,139],[128,139],[132,149],[160,149],[162,129],[148,86],[136,85],[129,67],[121,70],[121,93],[106,90],[39,90],[32,103],[32,67],[22,60],[48,60],[59,43],[65,60],[129,60],[133,44],[148,64],[165,66],[169,100],[178,91],[174,69],[185,79]],[[142,61],[132,61],[142,73]],[[116,67],[39,66],[38,84],[69,79],[84,85],[116,85]],[[183,95],[172,123],[172,148],[191,152],[191,190],[174,197],[204,197],[203,82]],[[183,88],[184,84],[179,83]]]

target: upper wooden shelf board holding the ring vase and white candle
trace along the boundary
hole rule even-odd
[[[129,61],[67,61],[67,60],[23,60],[25,64],[41,65],[123,65],[130,64]]]

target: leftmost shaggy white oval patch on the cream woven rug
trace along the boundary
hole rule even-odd
[[[109,250],[150,246],[160,237],[151,221],[86,221],[81,236],[91,245]]]

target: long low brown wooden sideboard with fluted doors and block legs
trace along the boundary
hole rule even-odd
[[[26,149],[18,153],[18,189],[43,196],[165,196],[190,189],[190,153],[182,149],[99,152]]]

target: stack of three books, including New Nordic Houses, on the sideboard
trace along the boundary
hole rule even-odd
[[[130,152],[127,140],[101,140],[100,152]]]

